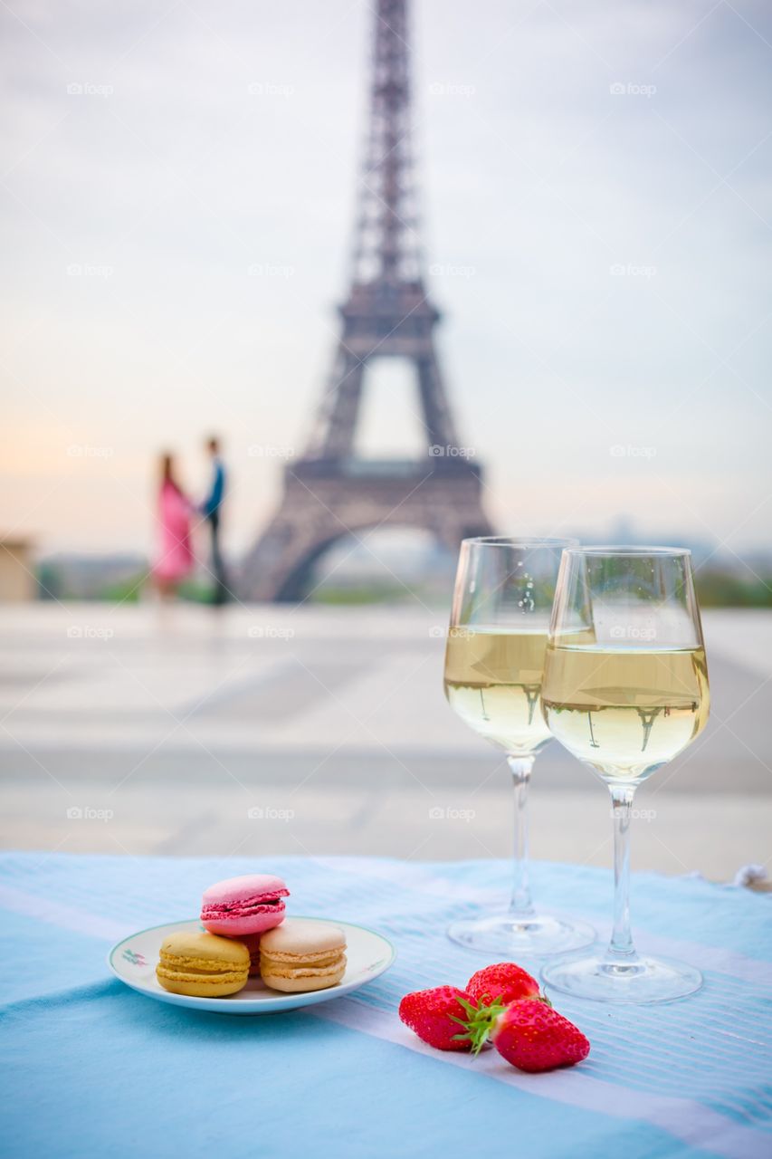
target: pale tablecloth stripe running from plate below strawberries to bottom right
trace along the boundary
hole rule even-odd
[[[517,1087],[527,1094],[612,1118],[642,1120],[693,1147],[705,1147],[724,1159],[769,1159],[770,1136],[711,1110],[692,1099],[651,1095],[644,1091],[590,1078],[577,1070],[553,1071],[548,1074],[525,1074],[502,1060],[495,1051],[478,1058],[451,1051],[432,1050],[410,1034],[395,1014],[373,1009],[356,998],[341,998],[323,1006],[309,1006],[306,1013],[350,1030],[383,1038],[405,1047],[435,1062],[476,1071],[486,1078]]]

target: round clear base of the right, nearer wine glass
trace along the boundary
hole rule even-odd
[[[603,1003],[669,1003],[686,998],[702,985],[702,975],[685,962],[667,957],[633,957],[613,961],[588,955],[551,962],[541,981],[574,998]]]

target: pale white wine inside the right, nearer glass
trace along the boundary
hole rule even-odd
[[[542,706],[569,752],[606,781],[638,783],[705,728],[705,650],[551,643]]]

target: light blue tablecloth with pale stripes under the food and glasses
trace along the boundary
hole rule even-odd
[[[213,880],[268,869],[296,912],[384,932],[395,965],[355,996],[262,1018],[154,1003],[109,975],[114,941],[195,917]],[[527,1076],[495,1051],[431,1051],[396,1018],[408,990],[463,984],[485,964],[444,931],[500,902],[507,879],[496,861],[2,855],[0,1153],[769,1159],[772,898],[636,876],[641,947],[699,965],[704,991],[657,1007],[560,998],[591,1055]],[[533,879],[540,902],[605,933],[606,872],[538,863]]]

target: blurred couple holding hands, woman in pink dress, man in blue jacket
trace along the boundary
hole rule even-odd
[[[228,598],[228,586],[220,551],[220,516],[225,498],[225,464],[220,455],[218,438],[209,438],[205,443],[211,462],[209,494],[202,503],[194,503],[177,482],[174,455],[161,455],[161,482],[159,488],[158,523],[160,532],[159,555],[153,567],[153,580],[165,598],[176,595],[180,584],[192,571],[195,555],[191,533],[201,523],[209,525],[210,534],[210,574],[214,582],[212,600],[225,604]],[[191,527],[194,517],[196,524]]]

